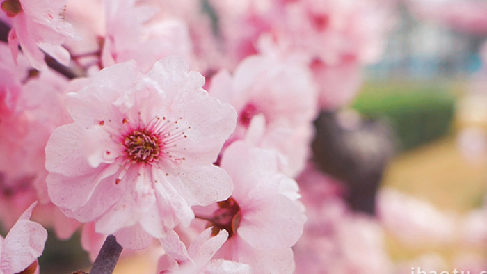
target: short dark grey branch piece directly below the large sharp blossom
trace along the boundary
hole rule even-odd
[[[115,236],[109,235],[99,250],[89,274],[111,274],[115,269],[122,246],[117,243]]]

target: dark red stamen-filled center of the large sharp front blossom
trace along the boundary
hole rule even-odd
[[[153,163],[161,154],[161,138],[147,129],[137,129],[127,134],[123,145],[127,157],[135,163]]]

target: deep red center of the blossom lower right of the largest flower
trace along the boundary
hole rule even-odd
[[[214,213],[211,223],[213,225],[212,234],[216,235],[221,229],[228,232],[228,239],[237,233],[240,225],[240,207],[233,198],[228,198],[223,202],[218,202],[218,207]]]

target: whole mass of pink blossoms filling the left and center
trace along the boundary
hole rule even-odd
[[[0,273],[42,253],[45,229],[27,220],[35,201],[33,218],[58,237],[83,229],[92,259],[109,234],[127,250],[162,247],[157,273],[319,272],[322,256],[337,263],[329,273],[353,271],[361,254],[335,252],[349,234],[374,235],[364,245],[387,265],[376,224],[350,214],[308,162],[313,120],[357,92],[389,9],[2,0],[0,218],[11,230]],[[367,235],[350,229],[362,225]]]

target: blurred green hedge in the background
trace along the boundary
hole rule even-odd
[[[445,83],[366,83],[352,108],[369,118],[387,118],[401,148],[409,150],[449,132],[454,99]]]

